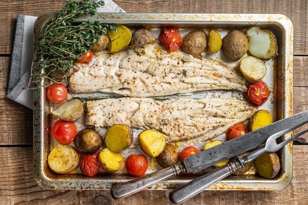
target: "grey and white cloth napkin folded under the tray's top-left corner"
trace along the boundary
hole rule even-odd
[[[98,7],[97,12],[125,12],[112,0],[104,0],[104,2],[105,5]],[[33,92],[31,89],[23,88],[28,84],[30,78],[33,58],[33,26],[36,18],[17,15],[11,70],[6,93],[7,98],[30,109],[33,109]]]

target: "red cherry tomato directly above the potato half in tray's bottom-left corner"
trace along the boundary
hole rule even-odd
[[[58,143],[69,144],[77,135],[77,126],[74,122],[59,119],[55,122],[51,133]]]

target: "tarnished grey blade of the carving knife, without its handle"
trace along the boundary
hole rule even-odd
[[[215,165],[217,162],[229,159],[265,143],[272,135],[284,135],[307,122],[308,111],[305,111],[278,120],[255,131],[248,132],[241,137],[224,142],[211,149],[186,157],[182,160],[182,164],[188,173],[197,173],[207,167]]]

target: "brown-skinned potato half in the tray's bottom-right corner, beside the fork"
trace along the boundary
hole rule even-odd
[[[266,152],[254,160],[254,166],[260,176],[274,178],[280,171],[279,157],[275,152]]]

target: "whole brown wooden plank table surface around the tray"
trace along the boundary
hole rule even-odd
[[[308,109],[308,1],[114,0],[126,12],[279,13],[294,26],[293,113]],[[113,200],[109,190],[44,190],[33,178],[32,111],[6,98],[17,14],[39,16],[65,0],[0,0],[0,205],[167,205],[170,191]],[[308,127],[306,126],[306,129]],[[304,130],[304,128],[302,128]],[[298,130],[297,130],[298,131]],[[297,132],[295,131],[295,132]],[[293,179],[281,191],[204,191],[187,205],[308,205],[308,135],[293,149]],[[100,203],[99,203],[100,202]]]

